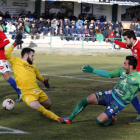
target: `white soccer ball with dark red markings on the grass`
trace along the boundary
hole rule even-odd
[[[15,107],[15,102],[12,99],[5,99],[2,103],[5,110],[12,110]]]

